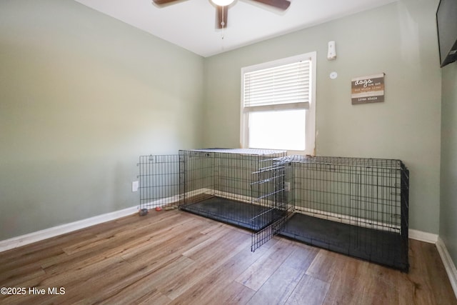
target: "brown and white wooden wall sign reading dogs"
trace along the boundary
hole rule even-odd
[[[384,101],[384,75],[375,74],[352,79],[352,104],[367,104]]]

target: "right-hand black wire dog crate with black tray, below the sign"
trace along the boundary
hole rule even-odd
[[[400,160],[286,156],[295,213],[278,233],[408,271],[409,172]]]

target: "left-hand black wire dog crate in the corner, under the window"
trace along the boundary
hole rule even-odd
[[[179,209],[259,231],[281,215],[267,198],[253,197],[253,175],[286,151],[194,149],[179,151],[182,201]],[[256,173],[256,174],[254,174]],[[263,184],[266,187],[267,184]],[[270,186],[272,187],[272,186]]]

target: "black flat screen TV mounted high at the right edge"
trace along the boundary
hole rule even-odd
[[[440,66],[457,60],[457,0],[441,0],[436,11]]]

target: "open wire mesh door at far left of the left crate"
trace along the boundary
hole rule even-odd
[[[140,209],[179,205],[179,163],[179,155],[139,157]]]

